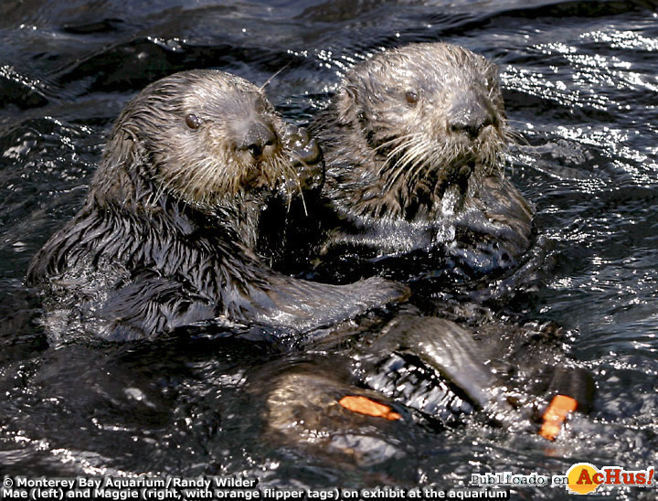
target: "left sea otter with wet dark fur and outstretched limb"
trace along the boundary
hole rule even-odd
[[[83,207],[29,265],[27,283],[49,287],[50,331],[133,339],[215,319],[303,332],[402,298],[381,279],[295,280],[255,251],[269,199],[315,187],[318,162],[247,80],[193,70],[147,86],[114,125]]]

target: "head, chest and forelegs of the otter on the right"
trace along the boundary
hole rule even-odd
[[[327,165],[327,268],[440,250],[432,260],[482,274],[528,249],[533,208],[503,176],[514,134],[487,59],[444,43],[379,53],[347,72],[310,130]]]

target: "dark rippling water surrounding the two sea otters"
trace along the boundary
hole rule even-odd
[[[307,123],[380,48],[447,41],[494,59],[527,144],[508,176],[536,205],[554,266],[508,307],[564,325],[595,409],[554,443],[472,423],[387,428],[365,464],[270,440],[270,346],[182,336],[54,349],[27,262],[80,207],[112,120],[143,86],[217,68]],[[4,0],[0,4],[0,470],[249,474],[261,484],[467,485],[472,473],[656,463],[658,16],[631,2]],[[207,333],[206,333],[207,334]],[[292,357],[292,356],[291,356]],[[611,491],[638,496],[637,489]],[[521,493],[523,494],[523,493]],[[527,498],[564,491],[536,489]],[[653,492],[643,495],[653,498]]]

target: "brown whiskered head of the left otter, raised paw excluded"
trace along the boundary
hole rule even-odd
[[[121,176],[126,165],[137,171],[127,173],[131,178],[151,180],[156,193],[211,211],[238,197],[299,186],[290,129],[247,80],[218,70],[175,73],[126,106],[108,144],[105,176]],[[304,144],[298,152],[308,150]]]

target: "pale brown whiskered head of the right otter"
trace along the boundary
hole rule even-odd
[[[419,210],[446,210],[448,198],[453,209],[500,169],[509,135],[496,66],[442,43],[390,50],[356,66],[336,108],[354,143],[345,147],[359,152],[355,179],[370,184],[356,181],[353,202],[378,215],[413,219]]]

